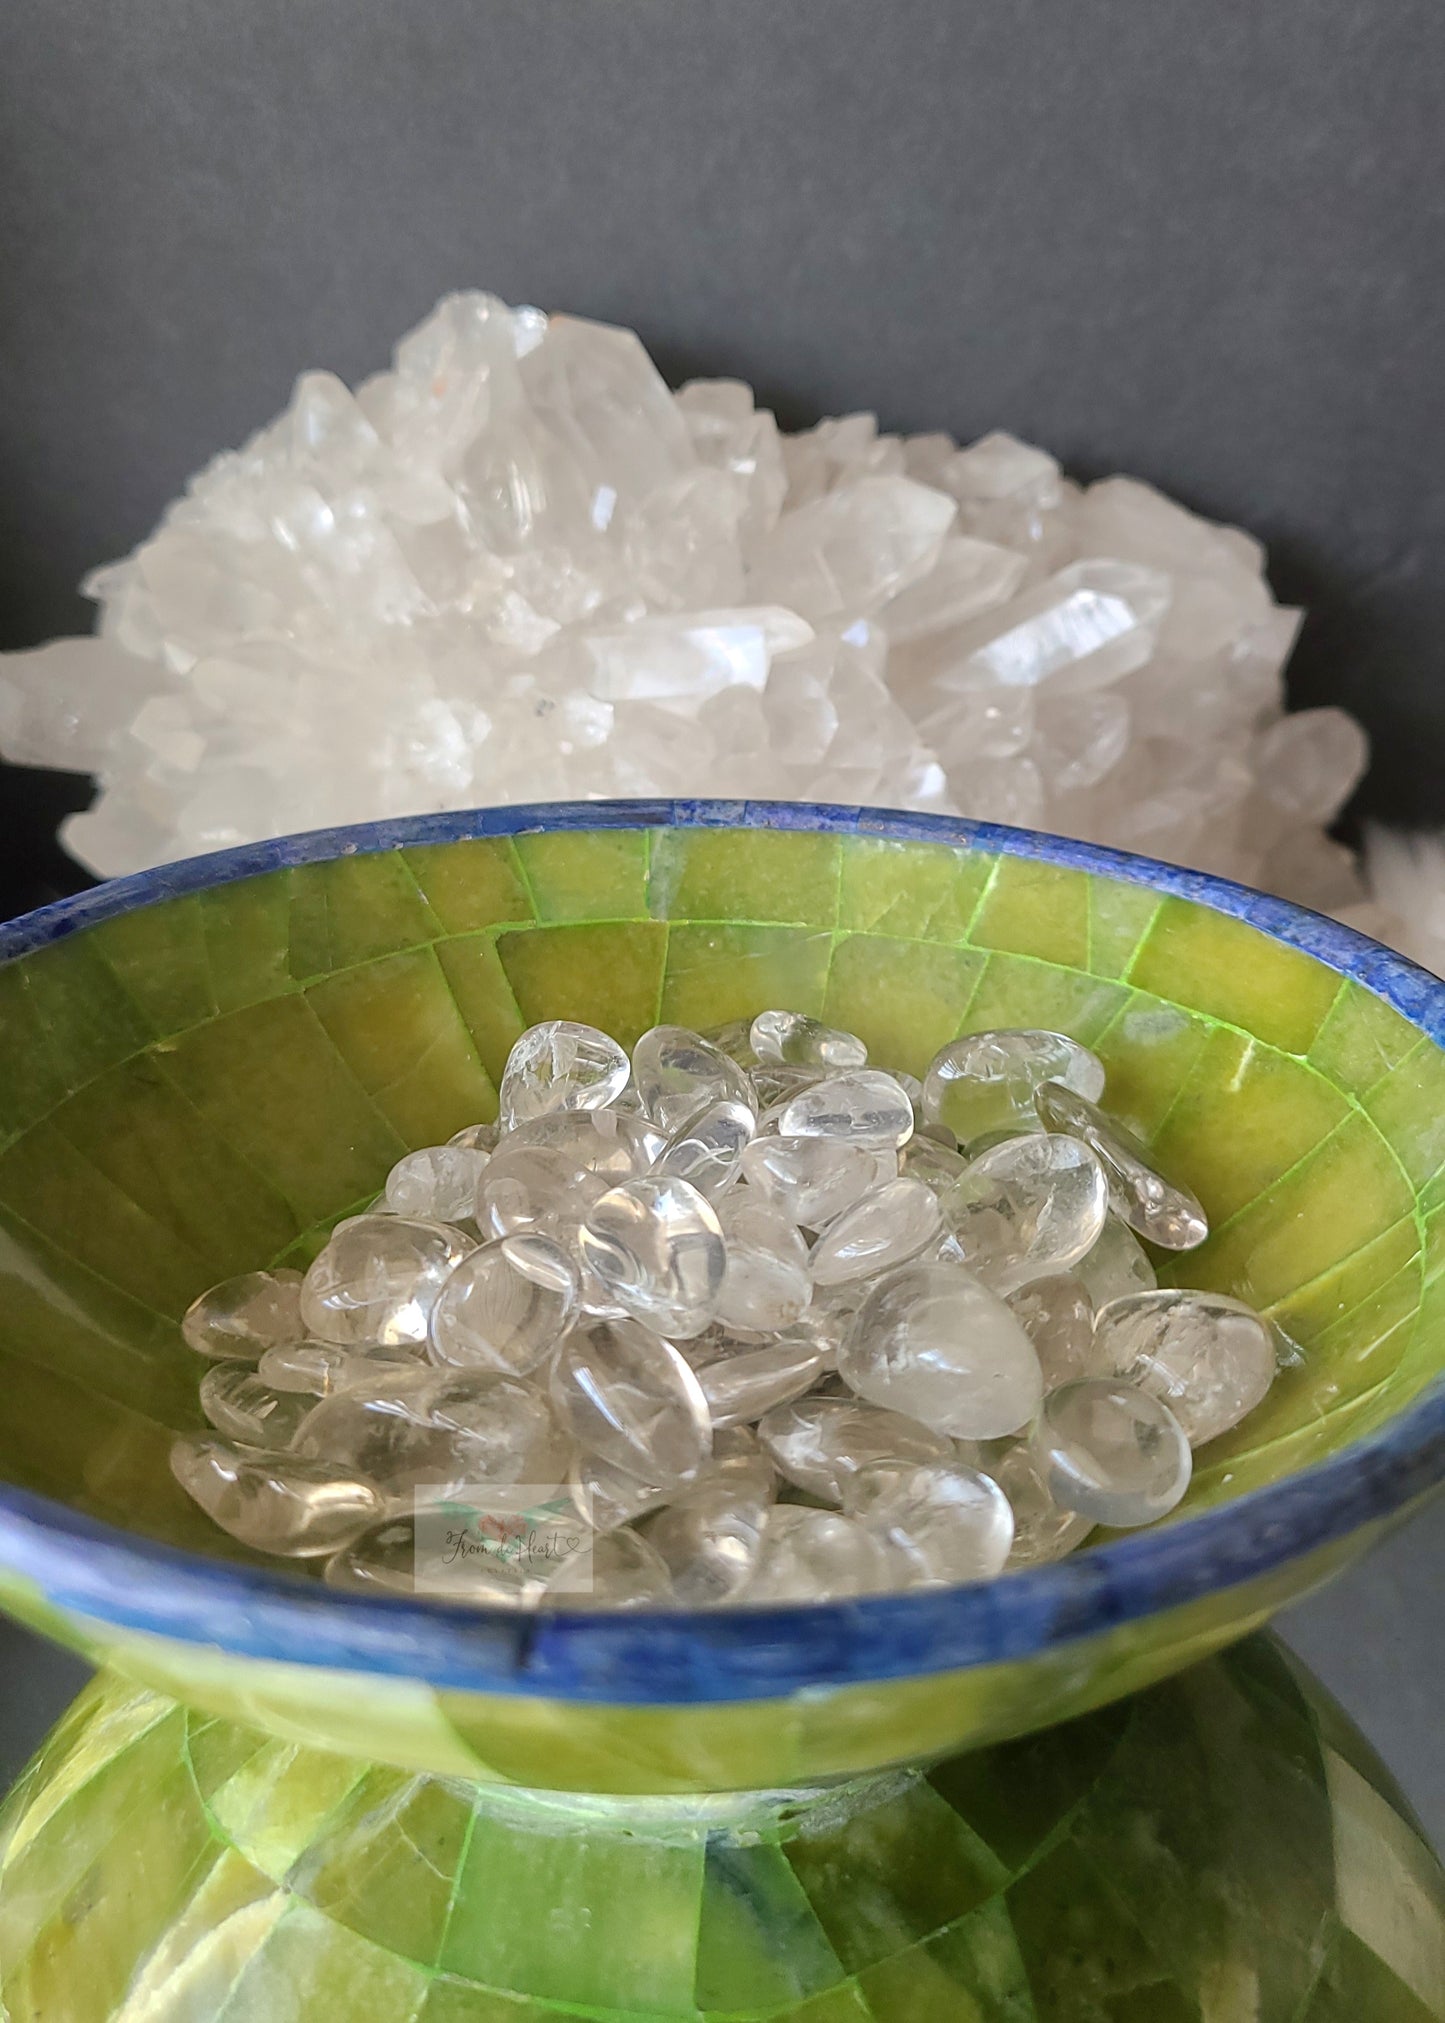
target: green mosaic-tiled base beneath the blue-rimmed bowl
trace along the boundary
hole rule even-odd
[[[822,1805],[486,1796],[87,1691],[0,1815],[10,2023],[1429,2023],[1445,1879],[1269,1639]]]

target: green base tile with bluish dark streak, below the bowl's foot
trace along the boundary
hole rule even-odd
[[[838,1954],[771,1841],[712,1835],[698,1918],[698,2009],[783,2009],[844,1978]]]

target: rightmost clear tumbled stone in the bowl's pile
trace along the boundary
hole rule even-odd
[[[1095,1361],[1162,1398],[1190,1446],[1204,1446],[1253,1412],[1275,1382],[1275,1339],[1239,1299],[1166,1289],[1103,1309]]]

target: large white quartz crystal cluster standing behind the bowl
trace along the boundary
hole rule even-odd
[[[779,433],[640,340],[445,299],[354,394],[308,372],[128,560],[99,637],[0,666],[0,749],[89,769],[99,872],[587,795],[959,811],[1362,898],[1342,710],[1235,528],[1008,435]]]

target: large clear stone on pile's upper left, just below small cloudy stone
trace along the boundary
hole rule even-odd
[[[302,1285],[306,1333],[342,1347],[425,1341],[437,1295],[472,1248],[443,1222],[338,1222]]]

